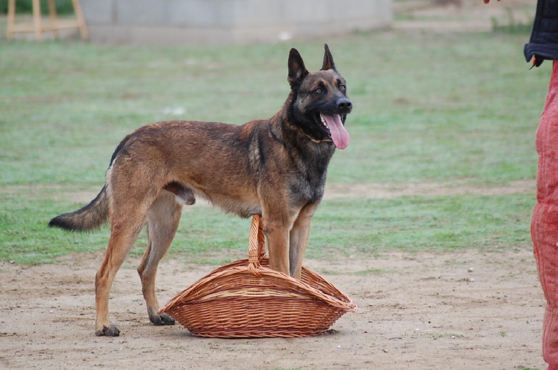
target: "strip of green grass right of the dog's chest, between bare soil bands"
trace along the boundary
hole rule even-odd
[[[307,255],[525,247],[533,201],[525,194],[326,201],[313,219]]]

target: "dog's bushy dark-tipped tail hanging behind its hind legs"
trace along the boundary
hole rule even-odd
[[[109,200],[107,199],[107,185],[105,185],[87,206],[54,217],[50,220],[48,226],[59,227],[68,231],[91,231],[98,229],[108,219]]]

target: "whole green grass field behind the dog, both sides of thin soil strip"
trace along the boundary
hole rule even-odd
[[[378,31],[328,39],[354,111],[351,145],[329,182],[460,183],[502,187],[534,180],[534,133],[550,63],[529,70],[527,33]],[[0,40],[0,259],[50,263],[103,249],[107,229],[47,229],[51,217],[100,190],[112,151],[154,121],[244,123],[287,98],[287,55],[310,70],[322,41],[229,47],[129,47]],[[529,248],[533,194],[348,197],[322,203],[307,256],[363,258],[409,252]],[[245,255],[249,221],[193,206],[171,254],[222,263]],[[140,254],[143,235],[134,249]]]

